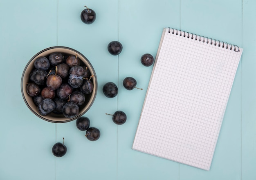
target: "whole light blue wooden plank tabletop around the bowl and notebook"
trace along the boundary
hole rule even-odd
[[[84,5],[97,19],[83,24]],[[256,179],[256,1],[254,0],[0,0],[0,180],[255,180]],[[157,53],[164,27],[243,47],[234,86],[210,171],[189,167],[131,149],[152,67],[140,57]],[[110,41],[123,44],[119,56]],[[54,124],[27,108],[20,79],[34,54],[67,46],[92,63],[99,82],[97,98],[85,114],[101,138],[90,142],[75,121]],[[132,76],[144,90],[127,91]],[[106,82],[119,87],[106,98]],[[126,124],[110,116],[125,111]],[[52,155],[65,138],[67,154]]]

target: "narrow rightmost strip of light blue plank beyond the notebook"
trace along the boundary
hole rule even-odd
[[[243,99],[242,99],[242,178],[256,179],[256,17],[255,1],[243,1]]]

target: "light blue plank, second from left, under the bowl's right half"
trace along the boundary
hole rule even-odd
[[[67,137],[69,152],[57,159],[56,178],[115,179],[117,127],[105,113],[117,108],[117,98],[105,97],[102,87],[106,82],[117,82],[118,78],[117,56],[110,55],[107,50],[110,40],[118,37],[117,0],[58,2],[58,45],[82,53],[91,62],[97,75],[97,97],[84,116],[90,119],[90,127],[97,127],[101,131],[101,137],[95,142],[89,141],[85,131],[76,128],[76,120],[58,124],[57,138]],[[81,21],[80,14],[85,5],[96,13],[96,20],[92,24]]]

